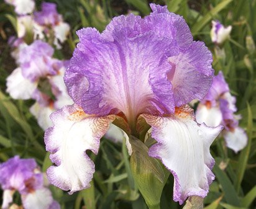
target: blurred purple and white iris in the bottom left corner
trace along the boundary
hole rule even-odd
[[[2,209],[12,203],[15,191],[21,194],[25,209],[58,209],[52,193],[43,185],[43,174],[34,159],[10,158],[0,164],[0,185],[4,190]]]

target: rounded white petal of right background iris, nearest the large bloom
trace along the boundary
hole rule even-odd
[[[199,104],[196,109],[196,122],[205,123],[208,127],[217,127],[222,122],[222,112],[219,107],[208,107]]]

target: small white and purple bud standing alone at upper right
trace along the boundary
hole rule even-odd
[[[232,26],[224,27],[219,21],[212,21],[212,29],[211,29],[211,40],[214,43],[221,44],[227,38],[229,38],[229,34],[231,33]]]

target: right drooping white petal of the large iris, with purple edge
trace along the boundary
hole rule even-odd
[[[209,147],[222,127],[209,128],[194,121],[191,109],[178,109],[171,117],[144,114],[152,126],[157,144],[149,155],[160,159],[173,174],[173,200],[182,204],[187,197],[206,197],[214,179],[214,165]]]

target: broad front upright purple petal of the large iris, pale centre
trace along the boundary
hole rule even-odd
[[[64,80],[71,98],[85,112],[121,111],[128,120],[141,112],[173,112],[166,74],[171,68],[167,54],[175,55],[174,47],[153,33],[129,38],[129,32],[114,30],[110,42],[95,29],[78,31],[80,43]]]

